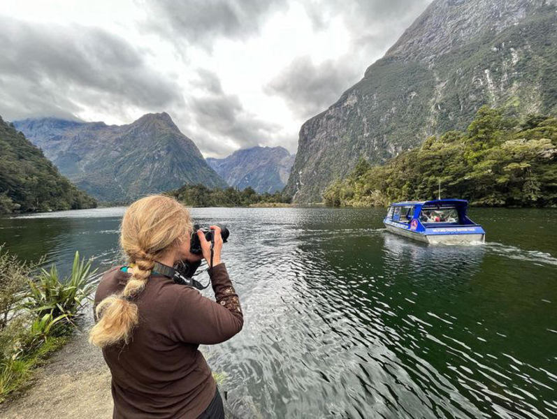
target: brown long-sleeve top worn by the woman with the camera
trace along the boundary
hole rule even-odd
[[[122,292],[131,275],[115,267],[95,295]],[[199,344],[218,344],[240,332],[243,314],[224,263],[209,270],[216,302],[196,289],[152,275],[136,297],[139,324],[129,344],[103,349],[112,373],[113,418],[197,418],[216,383]]]

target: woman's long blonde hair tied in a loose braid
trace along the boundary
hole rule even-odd
[[[133,274],[120,295],[110,295],[97,305],[99,322],[89,332],[89,342],[101,348],[129,342],[139,321],[133,300],[145,288],[154,261],[189,240],[190,234],[189,211],[173,198],[147,196],[129,206],[122,219],[120,246],[133,264]]]

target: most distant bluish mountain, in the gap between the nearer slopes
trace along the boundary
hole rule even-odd
[[[252,147],[207,162],[230,186],[274,193],[284,188],[294,157],[283,147]]]

